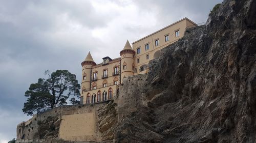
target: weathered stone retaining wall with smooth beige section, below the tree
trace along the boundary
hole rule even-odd
[[[97,104],[67,105],[34,115],[29,121],[17,125],[16,142],[44,142],[43,140],[47,139],[102,141],[103,132],[99,131],[98,109],[104,110],[108,103],[113,104],[112,101],[106,101]],[[106,130],[108,128],[104,131]]]

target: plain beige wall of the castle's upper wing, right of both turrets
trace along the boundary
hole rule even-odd
[[[184,36],[185,30],[187,25],[194,24],[190,22],[188,19],[184,18],[180,21],[175,22],[174,24],[167,26],[163,28],[162,30],[153,33],[149,36],[146,36],[133,44],[133,50],[136,51],[134,56],[135,61],[135,68],[136,68],[136,74],[143,74],[146,73],[146,71],[139,71],[140,67],[142,65],[148,65],[148,62],[150,60],[154,59],[154,55],[159,55],[159,50],[178,41],[180,38]],[[175,32],[179,31],[180,36],[176,37]],[[169,35],[169,41],[165,41],[165,36]],[[159,40],[159,45],[155,45],[155,41]],[[148,50],[145,50],[145,45],[149,44],[150,48]],[[140,53],[137,53],[137,49],[140,48]],[[156,54],[155,54],[156,53]],[[149,59],[146,59],[146,55],[148,54]],[[137,62],[137,59],[139,59],[139,63]]]

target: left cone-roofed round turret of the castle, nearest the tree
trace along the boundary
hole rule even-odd
[[[90,52],[86,56],[86,59],[84,59],[84,61],[81,63],[81,65],[82,65],[82,82],[81,82],[81,94],[82,94],[83,92],[90,90],[91,67],[96,65],[96,63],[93,61],[93,58]]]

